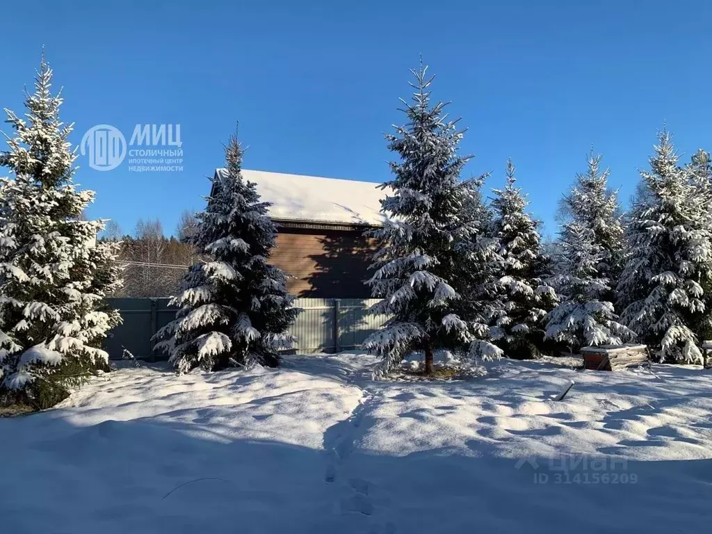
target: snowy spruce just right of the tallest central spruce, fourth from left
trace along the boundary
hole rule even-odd
[[[541,248],[540,222],[527,213],[528,201],[515,186],[514,165],[507,162],[507,183],[493,189],[492,221],[501,257],[496,318],[491,334],[508,357],[538,355],[545,335],[544,318],[557,303],[555,290],[544,282],[550,258]]]

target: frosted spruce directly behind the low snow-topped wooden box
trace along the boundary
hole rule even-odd
[[[562,201],[555,276],[550,283],[561,303],[547,316],[546,337],[571,350],[590,345],[619,345],[635,333],[617,322],[614,283],[622,255],[623,226],[617,194],[591,152],[586,174],[578,174]]]

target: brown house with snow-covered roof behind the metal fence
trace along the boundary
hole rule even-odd
[[[225,169],[216,169],[216,175]],[[375,182],[243,169],[263,201],[271,202],[277,247],[270,262],[291,278],[298,297],[370,298],[364,284],[374,243],[364,232],[382,226]]]

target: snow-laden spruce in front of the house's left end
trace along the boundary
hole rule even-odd
[[[157,350],[179,373],[194,367],[220,370],[254,364],[275,367],[288,347],[287,329],[299,313],[286,276],[269,265],[276,227],[268,202],[242,177],[243,151],[236,136],[225,148],[226,169],[216,174],[208,206],[197,214],[189,241],[211,258],[190,268],[172,302],[176,319],[159,330]]]

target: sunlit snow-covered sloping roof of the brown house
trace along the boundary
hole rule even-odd
[[[216,173],[225,169],[216,169]],[[387,189],[379,182],[242,170],[242,176],[257,184],[263,201],[272,203],[270,215],[282,221],[380,226],[380,200]]]

